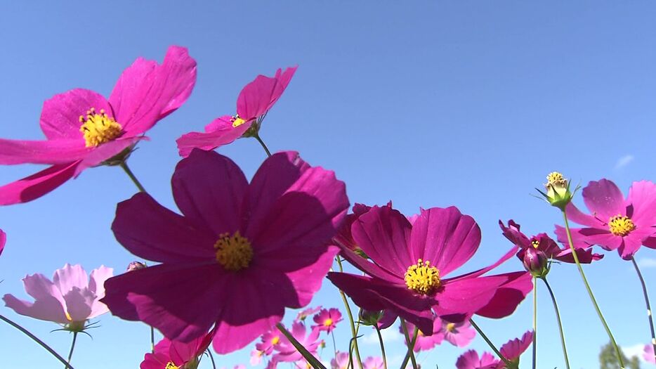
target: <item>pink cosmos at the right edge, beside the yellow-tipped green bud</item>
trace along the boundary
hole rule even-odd
[[[583,189],[583,201],[590,215],[583,214],[571,202],[566,208],[570,221],[585,226],[571,229],[575,247],[599,245],[605,250],[617,250],[625,260],[630,260],[641,245],[656,249],[654,183],[634,182],[624,199],[612,181],[591,181]],[[565,228],[556,226],[556,235],[558,241],[568,243]]]

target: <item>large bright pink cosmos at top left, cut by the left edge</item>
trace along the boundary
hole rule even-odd
[[[88,167],[124,160],[145,131],[178,109],[196,82],[196,62],[171,46],[164,63],[138,58],[110,98],[86,89],[53,96],[41,111],[45,141],[0,139],[0,164],[51,164],[0,187],[0,205],[28,202]]]

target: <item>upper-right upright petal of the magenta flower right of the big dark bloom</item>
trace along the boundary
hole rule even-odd
[[[440,276],[446,276],[465,264],[478,250],[479,244],[478,224],[456,207],[422,210],[412,226],[412,259],[414,262],[416,259],[431,261],[431,265],[440,271]]]

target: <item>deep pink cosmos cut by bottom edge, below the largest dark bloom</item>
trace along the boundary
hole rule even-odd
[[[213,332],[192,339],[188,343],[162,339],[155,345],[155,353],[145,354],[141,369],[184,369],[198,364],[198,357],[209,347]]]

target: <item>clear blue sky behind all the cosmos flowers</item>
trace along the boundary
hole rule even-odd
[[[161,61],[169,45],[186,46],[198,63],[195,90],[130,159],[145,188],[174,207],[174,140],[233,114],[237,93],[256,75],[299,65],[265,119],[261,136],[269,147],[298,150],[310,164],[336,171],[352,203],[393,200],[406,214],[456,205],[483,229],[479,252],[463,268],[469,271],[509,247],[498,219],[515,219],[530,234],[553,231],[558,212],[530,196],[549,171],[583,185],[609,178],[624,193],[631,181],[655,180],[655,19],[656,4],[646,1],[3,1],[0,136],[41,139],[47,98],[75,87],[108,96],[138,56]],[[246,139],[220,152],[248,176],[265,157]],[[1,167],[0,183],[37,169]],[[120,169],[101,167],[34,202],[0,207],[8,233],[0,294],[25,297],[21,278],[51,276],[67,262],[122,271],[133,257],[110,224],[116,203],[135,191]],[[636,258],[656,289],[656,252]],[[518,268],[513,259],[501,270]],[[647,343],[631,264],[612,252],[586,271],[619,344]],[[572,368],[598,368],[608,339],[578,273],[556,265],[549,278]],[[539,288],[539,368],[563,368],[545,292]],[[326,282],[313,304],[340,307],[338,297]],[[67,352],[70,337],[51,333],[56,325],[0,311]],[[93,340],[80,338],[76,368],[138,367],[147,328],[110,315],[100,323]],[[504,321],[480,319],[499,344],[530,324],[530,302]],[[347,331],[339,328],[341,349]],[[7,325],[0,337],[4,366],[58,365]],[[398,363],[402,342],[391,339]],[[366,355],[379,354],[377,344],[362,346]],[[477,338],[472,347],[485,344]],[[247,363],[248,351],[218,357],[219,364]],[[453,368],[460,352],[439,347],[420,361]]]

